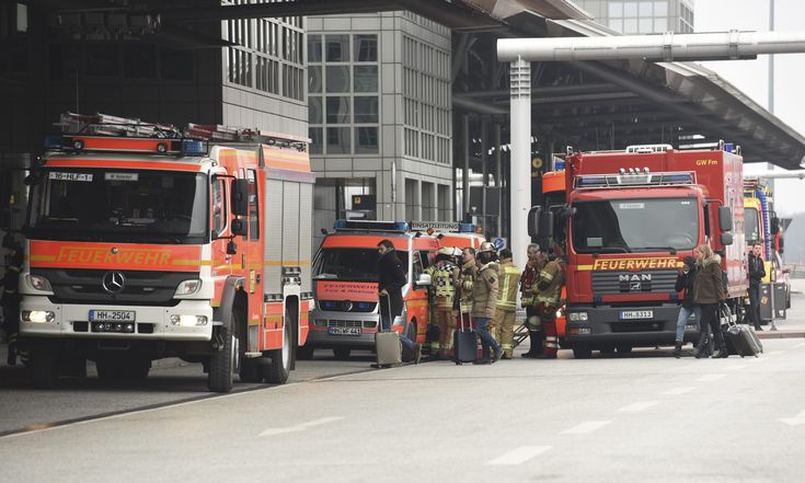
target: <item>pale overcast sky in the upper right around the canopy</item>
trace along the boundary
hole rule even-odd
[[[770,0],[695,0],[694,28],[697,32],[769,31]],[[774,0],[774,30],[805,31],[805,1]],[[757,60],[723,60],[702,65],[749,95],[758,104],[769,107],[769,56]],[[805,54],[774,56],[773,113],[783,123],[805,135],[805,103],[802,84],[805,82]],[[747,164],[745,172],[766,170],[764,164]],[[775,209],[779,216],[790,217],[805,212],[805,181],[777,180]]]

